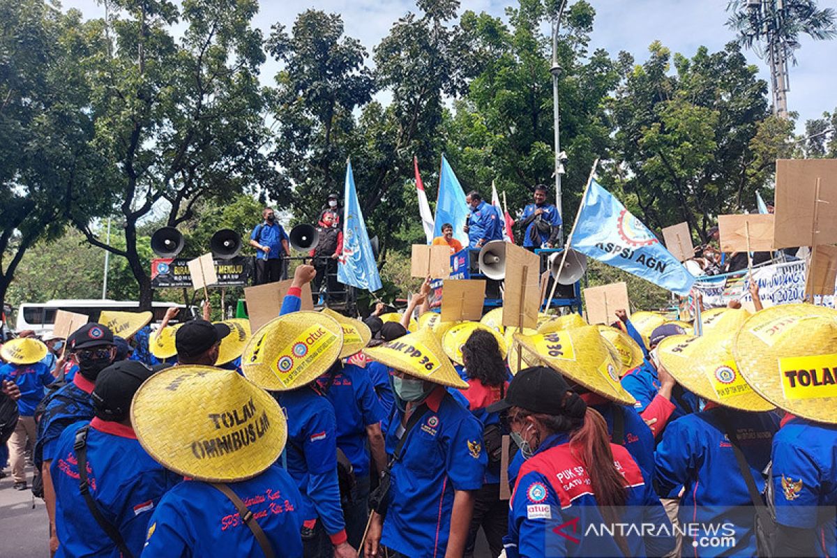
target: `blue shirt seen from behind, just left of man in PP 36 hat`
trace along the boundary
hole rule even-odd
[[[325,387],[328,376],[318,382]],[[337,448],[343,450],[357,476],[369,474],[369,452],[366,448],[366,427],[383,420],[383,408],[377,402],[372,380],[367,371],[347,364],[334,377],[326,397],[336,416]]]

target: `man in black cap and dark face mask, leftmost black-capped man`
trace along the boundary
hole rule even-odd
[[[49,547],[52,551],[58,548],[58,537],[55,535],[55,492],[49,466],[58,457],[56,445],[64,429],[74,422],[89,421],[94,416],[90,393],[99,372],[116,358],[113,333],[101,324],[82,325],[69,335],[67,351],[70,359],[79,366],[79,371],[71,383],[42,402],[45,410],[38,422],[38,441],[33,451],[35,467],[43,477],[44,501],[49,514]]]

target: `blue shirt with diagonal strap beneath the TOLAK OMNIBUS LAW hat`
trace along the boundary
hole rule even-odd
[[[253,479],[228,486],[253,512],[277,558],[302,555],[302,497],[285,469],[272,465]],[[198,480],[185,480],[157,505],[142,555],[198,558],[263,554],[253,532],[220,490]]]

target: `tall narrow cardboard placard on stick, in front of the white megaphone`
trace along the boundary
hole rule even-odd
[[[506,243],[503,325],[537,328],[541,308],[541,259],[526,248]]]

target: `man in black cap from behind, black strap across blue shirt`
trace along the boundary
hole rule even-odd
[[[151,374],[137,361],[108,366],[91,394],[95,417],[61,434],[51,465],[57,556],[139,556],[151,512],[182,480],[146,453],[131,427],[131,399]]]

